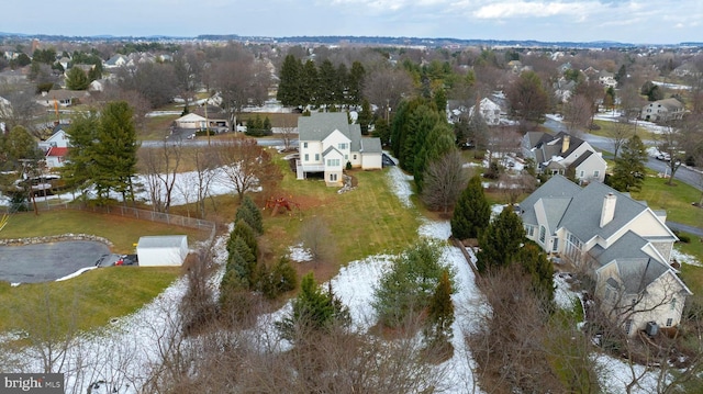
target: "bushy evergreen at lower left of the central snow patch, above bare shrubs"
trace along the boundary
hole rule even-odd
[[[293,301],[292,314],[277,322],[277,327],[283,338],[293,340],[300,331],[324,333],[335,326],[346,327],[350,323],[348,308],[334,295],[332,289],[322,291],[310,272],[302,278],[300,293]]]

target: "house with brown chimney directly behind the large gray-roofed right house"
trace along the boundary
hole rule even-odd
[[[601,154],[583,139],[563,132],[557,135],[526,133],[522,154],[525,159],[532,159],[542,173],[571,175],[580,183],[603,182],[605,179],[607,164]]]

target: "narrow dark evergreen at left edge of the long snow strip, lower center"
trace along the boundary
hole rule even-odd
[[[425,341],[431,345],[447,345],[454,334],[454,304],[451,303],[451,281],[449,272],[446,270],[439,278],[439,283],[435,289],[429,306],[427,308],[427,328],[425,328]]]

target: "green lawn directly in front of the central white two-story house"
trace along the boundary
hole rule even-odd
[[[300,239],[302,224],[312,217],[322,217],[331,232],[328,243],[334,245],[334,267],[316,274],[328,279],[349,261],[380,252],[397,252],[417,239],[419,212],[408,210],[390,191],[386,171],[350,171],[358,181],[355,190],[337,193],[322,180],[297,180],[284,161],[279,161],[284,173],[279,196],[297,203],[294,210],[270,215],[264,211],[265,232],[261,244],[272,256],[282,256],[289,245]]]

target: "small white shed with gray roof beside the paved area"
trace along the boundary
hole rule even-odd
[[[188,256],[188,237],[164,235],[141,237],[136,245],[141,267],[181,266]]]

